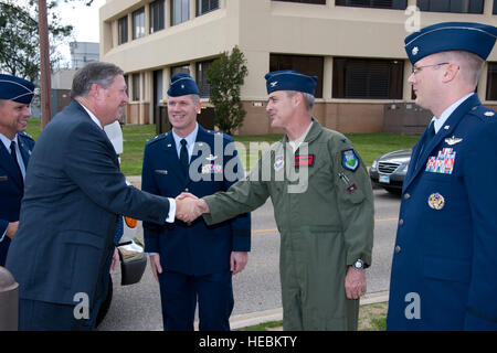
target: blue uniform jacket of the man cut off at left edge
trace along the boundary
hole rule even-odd
[[[18,133],[19,150],[22,161],[28,169],[28,161],[34,148],[34,140],[24,132]],[[23,183],[19,178],[18,168],[10,156],[10,151],[0,142],[0,238],[6,233],[10,222],[19,221],[21,200],[24,195]],[[6,265],[10,238],[3,237],[0,242],[0,266]]]

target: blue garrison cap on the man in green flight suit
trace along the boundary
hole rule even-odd
[[[297,90],[313,96],[318,81],[318,76],[306,76],[292,69],[274,71],[267,73],[264,78],[267,94],[275,90]]]

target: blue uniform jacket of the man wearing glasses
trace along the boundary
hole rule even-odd
[[[476,95],[446,120],[402,191],[388,330],[497,330],[497,115]]]

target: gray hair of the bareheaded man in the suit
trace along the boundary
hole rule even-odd
[[[114,64],[104,62],[88,63],[74,75],[71,98],[86,97],[93,84],[107,89],[117,75],[124,75],[124,72]]]

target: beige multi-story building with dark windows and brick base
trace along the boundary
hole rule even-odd
[[[416,10],[416,11],[414,11]],[[319,77],[314,115],[341,132],[424,129],[413,101],[403,40],[443,21],[497,25],[497,0],[107,0],[101,8],[101,60],[126,73],[127,122],[154,122],[176,72],[189,72],[209,105],[205,71],[237,45],[247,61],[247,111],[240,133],[269,126],[264,75],[296,69]],[[497,105],[497,50],[478,94]]]

